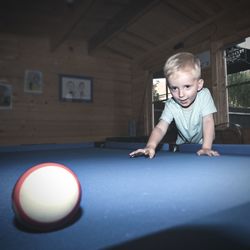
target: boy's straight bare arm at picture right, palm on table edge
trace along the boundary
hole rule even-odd
[[[202,148],[197,152],[198,155],[219,155],[217,151],[212,150],[214,137],[214,118],[213,114],[209,114],[203,117],[203,143]]]

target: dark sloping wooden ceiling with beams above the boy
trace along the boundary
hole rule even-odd
[[[6,0],[0,33],[48,37],[51,51],[68,40],[90,54],[107,51],[136,60],[171,42],[181,46],[235,4],[249,0]]]

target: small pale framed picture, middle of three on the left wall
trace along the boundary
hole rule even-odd
[[[34,94],[41,94],[43,92],[43,74],[41,71],[25,71],[24,92]]]

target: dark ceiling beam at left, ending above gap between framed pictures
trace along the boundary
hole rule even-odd
[[[72,34],[76,26],[81,22],[81,20],[88,13],[89,8],[96,0],[85,0],[76,1],[72,6],[65,5],[68,8],[65,14],[63,22],[57,31],[52,34],[50,39],[50,50],[55,51],[61,44],[63,44],[67,38]]]

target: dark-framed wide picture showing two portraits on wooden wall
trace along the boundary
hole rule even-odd
[[[71,102],[92,102],[91,77],[60,75],[60,99]]]

